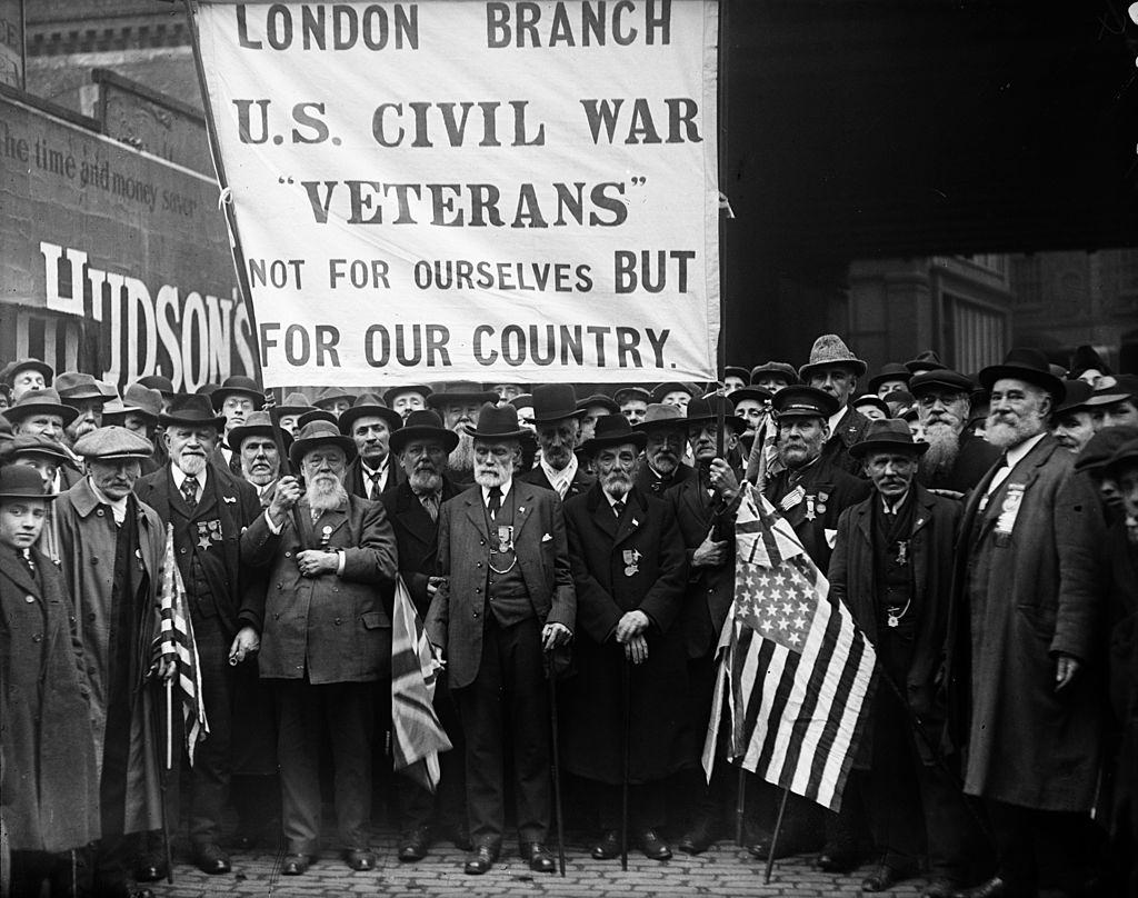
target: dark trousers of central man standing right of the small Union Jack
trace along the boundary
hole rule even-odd
[[[519,841],[544,842],[552,807],[550,700],[537,619],[502,627],[487,613],[478,675],[455,698],[467,738],[471,841],[476,846],[502,843],[509,739]]]

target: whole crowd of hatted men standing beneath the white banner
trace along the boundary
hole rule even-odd
[[[282,839],[303,875],[328,799],[343,860],[372,870],[377,792],[402,862],[446,837],[480,874],[517,835],[550,873],[555,749],[596,860],[700,854],[742,805],[754,856],[872,859],[864,891],[927,874],[933,898],[1138,893],[1138,377],[1087,347],[1066,368],[1013,349],[970,374],[926,352],[867,373],[836,335],[800,366],[585,397],[444,382],[274,403],[245,377],[119,396],[8,364],[11,895],[145,893],[164,818],[206,873]],[[791,798],[776,845],[777,790],[700,764],[749,488],[877,656],[841,813]],[[163,703],[171,560],[201,733]],[[382,735],[397,577],[444,672],[434,794],[390,776]]]

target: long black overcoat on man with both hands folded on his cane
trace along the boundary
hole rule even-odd
[[[694,757],[681,744],[687,651],[675,626],[687,561],[675,512],[662,499],[633,489],[618,521],[599,485],[566,502],[569,559],[577,586],[574,656],[566,682],[566,769],[589,780],[621,782],[624,646],[617,623],[627,611],[648,615],[648,660],[629,667],[629,780],[662,780]]]

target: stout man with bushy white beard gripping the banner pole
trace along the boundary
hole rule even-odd
[[[391,669],[384,596],[397,562],[384,506],[344,488],[354,456],[355,443],[336,425],[305,425],[289,460],[306,491],[302,495],[297,478],[282,477],[265,513],[241,536],[242,562],[265,570],[271,584],[264,601],[241,609],[241,621],[261,634],[261,677],[277,695],[287,876],[305,873],[320,854],[325,734],[344,858],[352,870],[376,866],[366,831],[374,693],[376,681]]]

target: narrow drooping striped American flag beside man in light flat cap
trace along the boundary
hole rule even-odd
[[[159,627],[155,640],[156,662],[176,662],[174,684],[182,698],[185,752],[193,764],[193,749],[209,733],[201,698],[201,666],[193,640],[193,623],[185,608],[185,584],[174,557],[174,527],[166,525],[166,560],[163,563],[162,594],[158,596]]]

